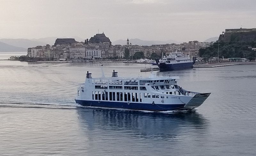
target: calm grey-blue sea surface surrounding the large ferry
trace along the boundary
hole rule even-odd
[[[149,76],[141,64],[104,67],[106,76]],[[0,155],[256,154],[255,65],[154,72],[212,93],[193,112],[81,107],[74,98],[86,71],[101,76],[93,63],[0,61]]]

